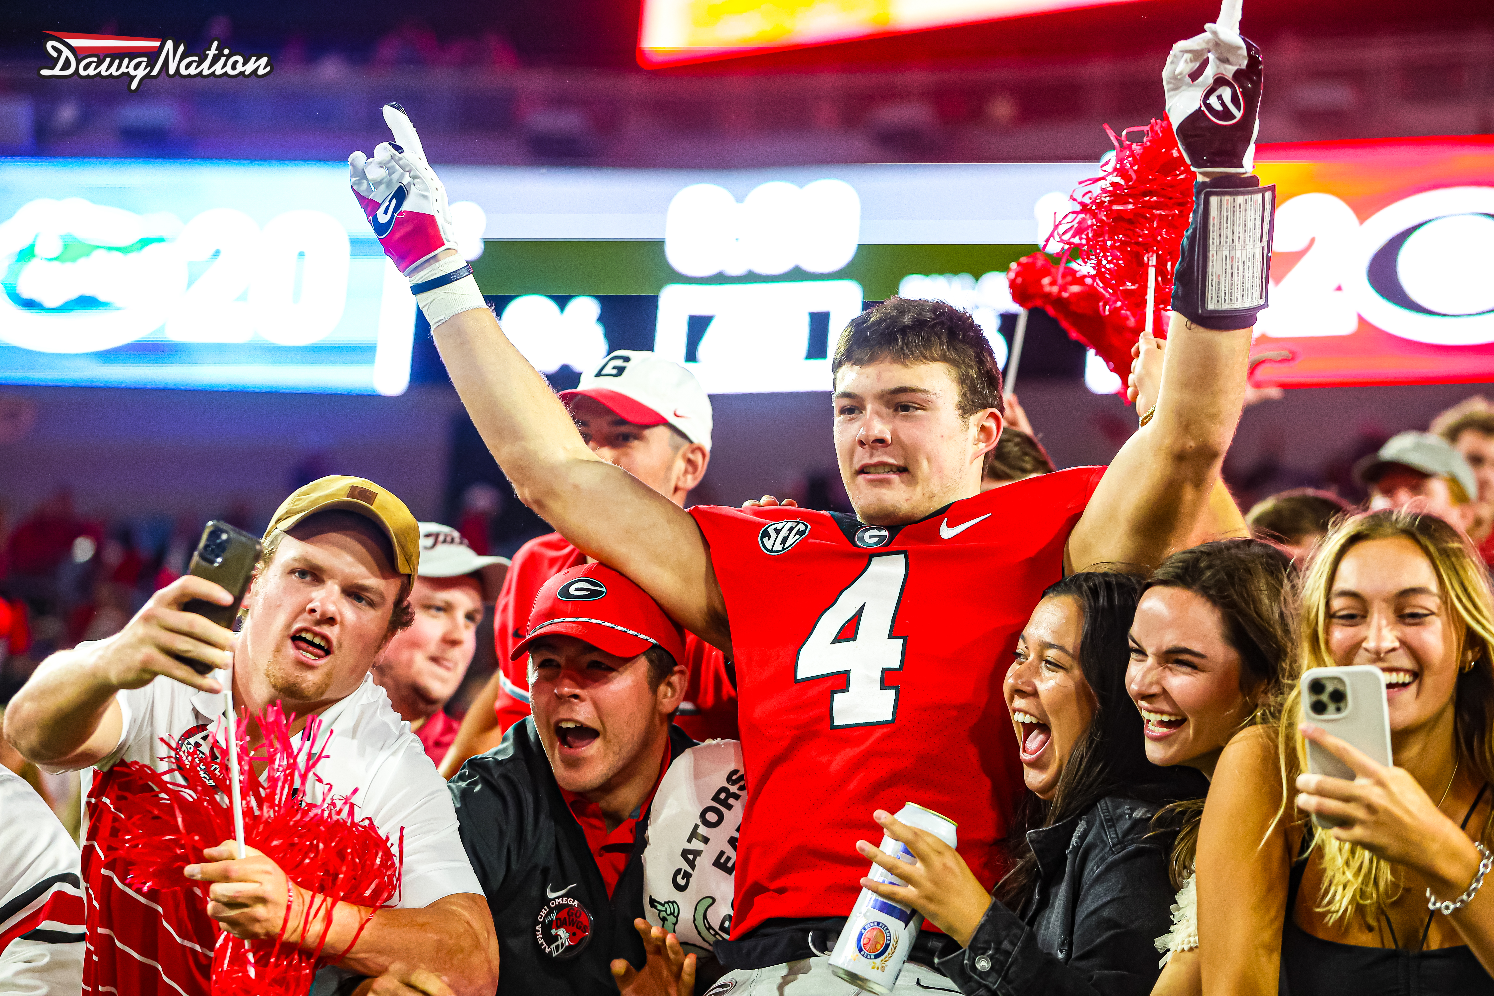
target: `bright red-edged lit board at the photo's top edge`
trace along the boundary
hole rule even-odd
[[[638,64],[705,63],[1112,3],[1134,0],[642,0]]]

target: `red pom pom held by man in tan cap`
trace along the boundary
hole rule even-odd
[[[270,705],[257,723],[264,735],[258,753],[248,747],[248,723],[241,721],[239,775],[244,788],[245,844],[269,856],[285,875],[318,897],[296,911],[279,936],[242,941],[214,924],[214,936],[193,941],[214,953],[212,992],[284,993],[299,996],[311,989],[327,939],[332,906],[345,900],[369,906],[369,914],[388,905],[399,888],[403,865],[403,835],[399,854],[369,818],[354,815],[351,796],[333,796],[317,778],[315,768],[327,738],[321,723],[306,724],[302,744],[291,742],[290,724],[278,705]],[[118,785],[106,803],[112,817],[96,838],[100,857],[120,859],[125,881],[142,890],[191,888],[197,902],[205,890],[182,875],[187,865],[203,860],[203,851],[233,836],[233,812],[227,799],[227,750],[209,739],[199,751],[185,738],[172,744],[170,769],[130,762],[109,772]],[[263,778],[255,775],[263,766]],[[368,920],[365,918],[365,923]],[[173,924],[191,929],[193,924]],[[294,927],[294,930],[291,930]],[[287,933],[311,938],[311,950],[282,944]]]

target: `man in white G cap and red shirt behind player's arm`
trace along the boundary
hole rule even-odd
[[[711,399],[678,363],[636,349],[617,349],[560,396],[581,438],[608,463],[683,506],[705,476],[711,458]],[[587,557],[560,533],[536,536],[518,548],[498,596],[493,642],[498,670],[472,700],[451,750],[439,765],[451,778],[474,754],[495,747],[503,732],[529,715],[529,675],[511,660],[539,588]],[[737,688],[722,651],[686,635],[689,685],[675,724],[696,741],[737,739]]]

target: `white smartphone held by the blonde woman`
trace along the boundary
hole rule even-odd
[[[1385,673],[1373,664],[1313,667],[1301,678],[1303,723],[1319,726],[1340,741],[1352,744],[1380,765],[1391,757],[1391,715],[1385,703]],[[1307,741],[1307,771],[1354,781],[1354,769]],[[1319,827],[1336,827],[1339,820],[1313,815]]]

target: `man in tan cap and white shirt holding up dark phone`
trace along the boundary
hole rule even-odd
[[[125,887],[120,860],[103,860],[91,845],[111,800],[137,784],[115,778],[117,762],[167,771],[163,739],[226,739],[220,669],[232,664],[227,679],[236,711],[251,717],[251,744],[258,739],[252,717],[270,703],[285,711],[296,745],[320,717],[318,784],[351,796],[354,815],[402,848],[391,906],[369,915],[366,906],[332,905],[323,957],[335,965],[318,975],[318,992],[351,992],[359,977],[379,975],[432,996],[493,992],[493,924],[462,853],[451,799],[369,675],[390,638],[411,623],[418,563],[420,530],[403,502],[363,478],[321,478],[272,517],[238,633],[184,611],[191,599],[233,603],[220,585],[187,575],[157,591],[118,635],[60,651],[36,669],[6,712],[6,738],[48,771],[97,769],[82,863],[85,989],[208,996],[217,927],[275,938],[293,911],[320,902],[254,848],[242,860],[227,860],[232,845],[209,848],[205,863],[184,869],[196,891],[158,891]],[[420,966],[439,968],[447,983]]]

